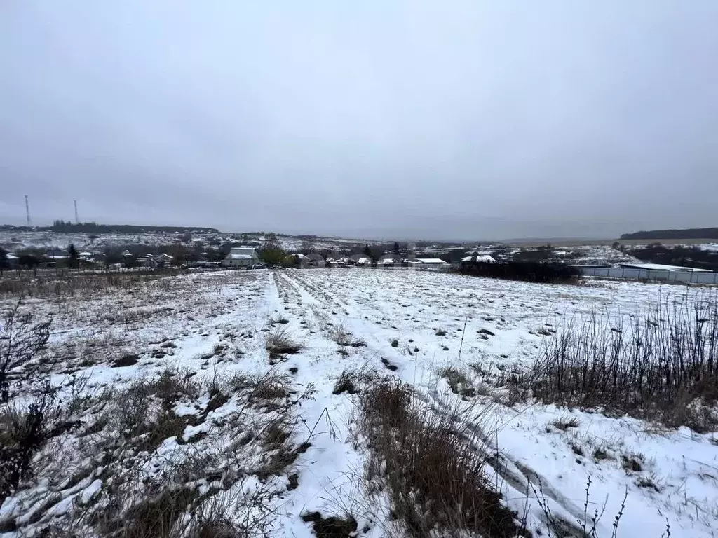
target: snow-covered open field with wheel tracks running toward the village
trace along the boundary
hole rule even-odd
[[[291,417],[282,418],[293,420],[294,451],[286,468],[253,474],[252,468],[262,468],[263,450],[269,450],[266,440],[240,449],[227,433],[237,416],[266,425],[266,407],[249,406],[249,412],[251,399],[243,400],[239,392],[210,405],[215,401],[211,392],[200,391],[173,400],[173,416],[197,420],[180,423],[180,433],[151,444],[141,463],[133,460],[139,466],[137,483],[158,476],[188,450],[226,446],[245,458],[238,464],[241,486],[231,486],[236,488],[231,499],[268,492],[265,507],[274,513],[269,536],[312,536],[301,516],[319,511],[324,516],[350,513],[358,522],[357,535],[381,537],[391,525],[388,514],[358,480],[366,451],[351,427],[355,396],[333,394],[345,370],[378,372],[411,384],[437,410],[474,402],[470,412],[481,413],[482,440],[495,453],[487,467],[491,481],[511,509],[523,514],[528,506],[527,523],[534,531],[544,527],[544,512],[529,483],[568,522],[582,520],[584,509],[590,516],[605,506],[599,537],[611,536],[626,494],[618,536],[659,537],[668,521],[673,537],[712,537],[718,528],[718,445],[712,434],[536,402],[501,405],[490,397],[490,387],[481,389],[490,378],[480,372],[520,372],[532,364],[542,339],[551,337],[562,316],[594,310],[633,313],[656,303],[659,293],[688,294],[691,300],[703,291],[661,290],[645,283],[536,285],[412,270],[316,269],[184,275],[129,289],[27,298],[23,308],[37,318],[52,316],[52,333],[45,354],[16,372],[26,383],[17,397],[22,399],[38,372],[51,372],[52,382],[65,387],[65,397],[78,379],[83,379],[83,393],[97,395],[111,386],[121,391],[168,367],[196,372],[192,379],[207,386],[237,375],[286,374],[286,402],[294,398],[285,409]],[[14,301],[3,299],[0,306]],[[281,330],[302,344],[297,353],[268,353],[266,337]],[[365,345],[340,346],[337,331]],[[124,364],[118,359],[133,355],[136,364],[118,366]],[[464,401],[454,394],[439,375],[444,367],[476,372],[477,395]],[[284,412],[276,408],[281,406],[269,407]],[[554,425],[571,423],[571,418],[577,419],[572,427]],[[10,519],[25,535],[52,525],[62,528],[73,510],[112,495],[106,462],[81,450],[90,426],[92,417],[83,417],[79,430],[63,433],[36,456],[37,475],[4,501],[0,529]],[[597,449],[600,458],[594,456]],[[52,461],[55,453],[62,453],[60,461]],[[626,468],[626,461],[636,464]],[[70,475],[78,478],[66,480]],[[204,494],[215,491],[210,478],[193,484]]]

